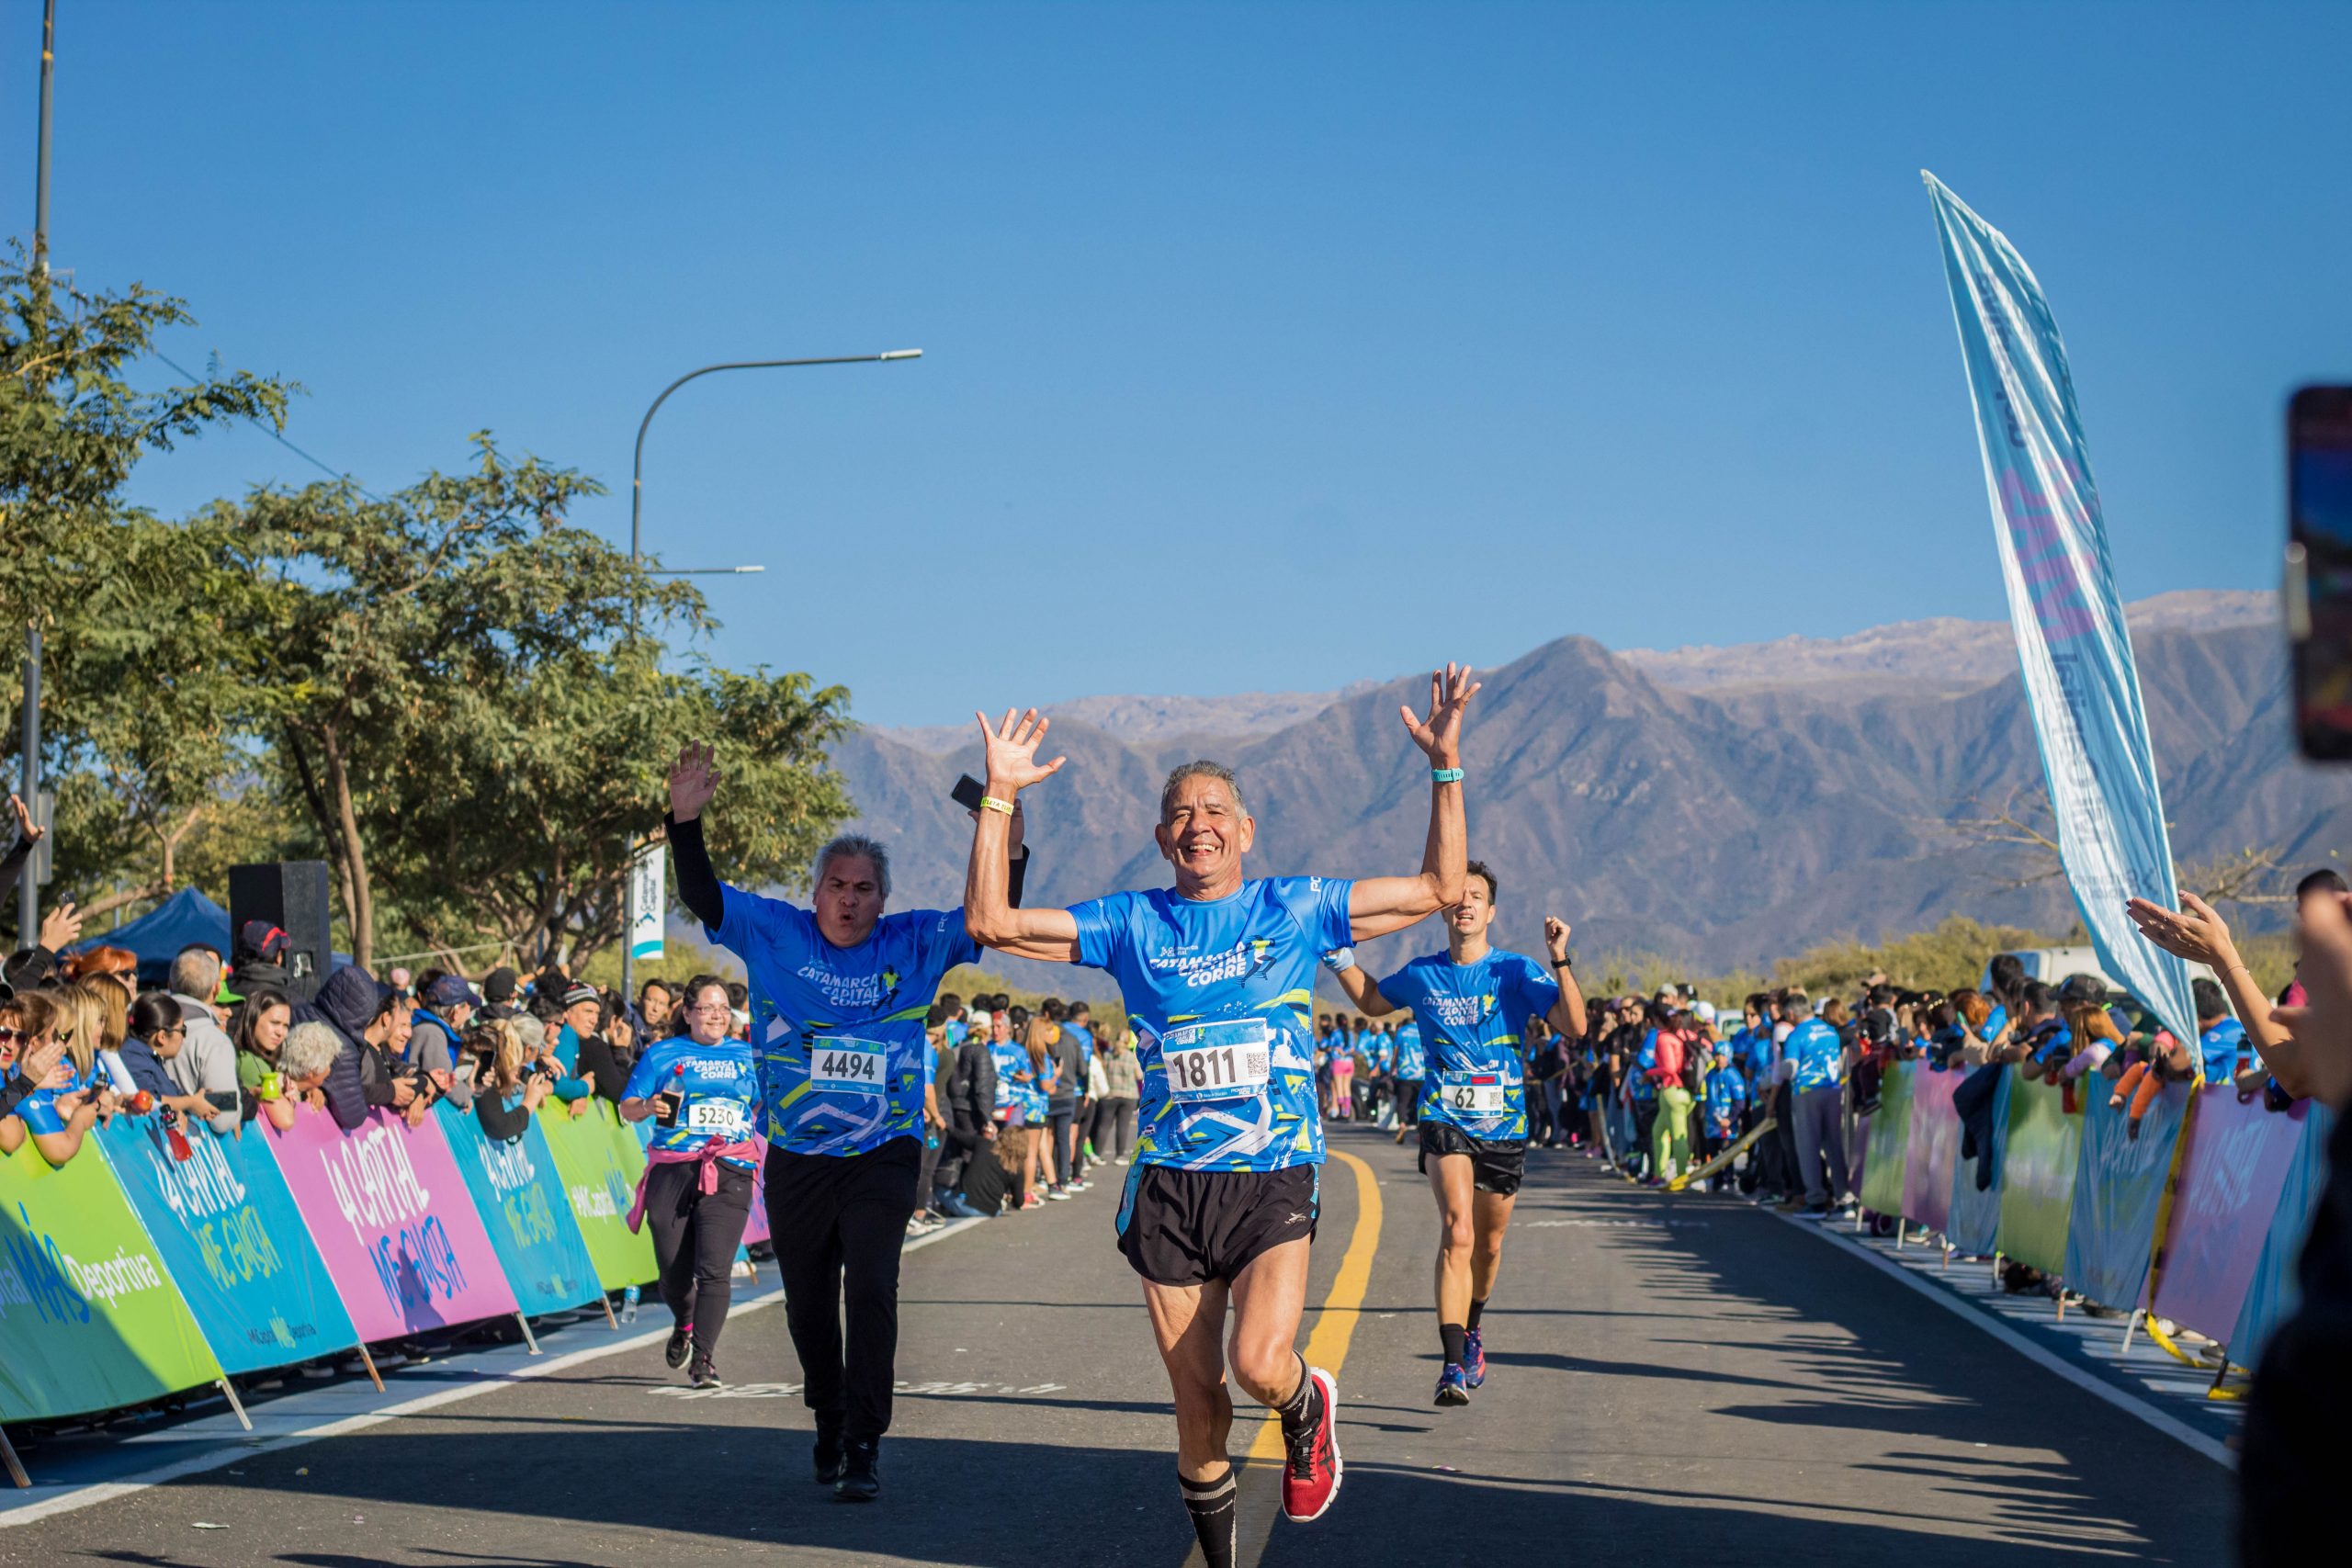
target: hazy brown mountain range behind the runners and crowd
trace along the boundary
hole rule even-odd
[[[2126,614],[2173,853],[2263,846],[2303,865],[2345,844],[2352,792],[2293,750],[2274,597],[2173,592]],[[1543,914],[1559,912],[1585,957],[1651,952],[1710,973],[1952,912],[2051,931],[2074,919],[2063,882],[2013,886],[2027,851],[1952,827],[2042,797],[2006,623],[1670,651],[1569,635],[1482,679],[1463,745],[1470,853],[1501,877],[1505,945],[1536,950]],[[1428,773],[1397,703],[1425,701],[1425,682],[1054,708],[1070,764],[1025,797],[1028,898],[1164,886],[1160,780],[1195,755],[1240,769],[1254,875],[1416,867]],[[863,729],[833,762],[858,830],[891,844],[894,905],[960,900],[971,823],[948,790],[978,766],[969,726]],[[1367,961],[1439,940],[1414,929]],[[1007,973],[1054,985],[1042,966]]]

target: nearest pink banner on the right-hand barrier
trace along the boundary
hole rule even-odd
[[[2246,1305],[2303,1119],[2267,1112],[2260,1098],[2241,1103],[2223,1084],[2197,1093],[2180,1135],[2190,1147],[2150,1309],[2223,1340]]]

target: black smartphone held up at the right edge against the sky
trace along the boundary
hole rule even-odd
[[[2314,762],[2352,757],[2352,386],[2286,404],[2286,644],[2296,741]]]

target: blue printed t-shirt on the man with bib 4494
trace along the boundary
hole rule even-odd
[[[793,1154],[868,1154],[922,1138],[922,1023],[938,983],[981,950],[962,910],[884,914],[835,947],[807,910],[724,886],[713,936],[750,973],[762,1131]]]

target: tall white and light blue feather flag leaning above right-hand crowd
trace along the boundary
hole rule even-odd
[[[2100,964],[2176,1037],[2194,1041],[2187,966],[2143,940],[2124,914],[2126,898],[2176,907],[2178,891],[2065,341],[2025,256],[1943,181],[1926,169],[1919,176],[1943,235],[2058,858]]]

